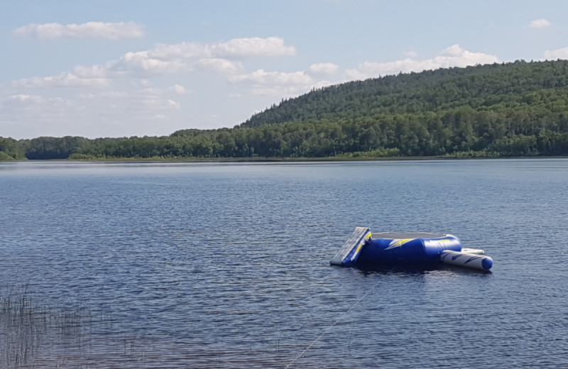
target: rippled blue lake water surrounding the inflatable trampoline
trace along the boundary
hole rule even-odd
[[[0,206],[0,368],[568,367],[566,159],[0,163]],[[493,269],[330,266],[355,226]]]

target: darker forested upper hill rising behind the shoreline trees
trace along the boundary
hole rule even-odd
[[[391,75],[312,90],[255,114],[244,127],[290,121],[338,121],[459,109],[562,111],[568,61],[517,61]],[[541,111],[542,113],[542,111]]]

